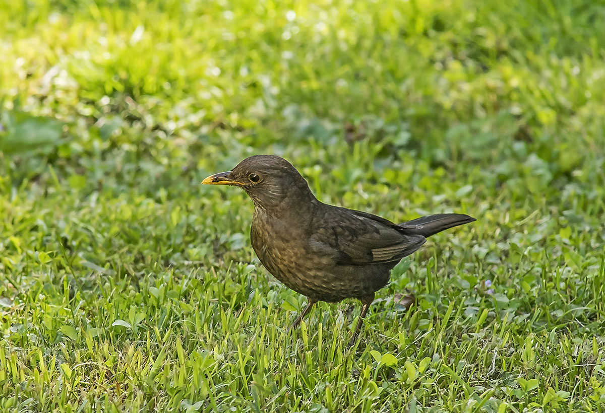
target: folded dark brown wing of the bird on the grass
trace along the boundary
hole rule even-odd
[[[399,261],[427,241],[422,235],[405,235],[391,221],[365,212],[330,207],[321,215],[322,225],[310,237],[310,247],[315,254],[335,257],[336,264]]]

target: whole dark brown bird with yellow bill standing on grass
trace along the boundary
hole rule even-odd
[[[348,343],[353,346],[376,291],[391,269],[427,238],[476,221],[462,213],[420,216],[401,224],[319,201],[292,164],[276,155],[253,155],[231,171],[201,182],[240,187],[254,204],[250,242],[261,264],[280,282],[307,297],[296,328],[318,301],[361,301]]]

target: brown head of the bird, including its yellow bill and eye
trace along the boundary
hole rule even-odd
[[[255,206],[265,210],[284,203],[315,200],[307,181],[296,168],[275,155],[253,155],[231,171],[210,175],[201,183],[241,187]]]

